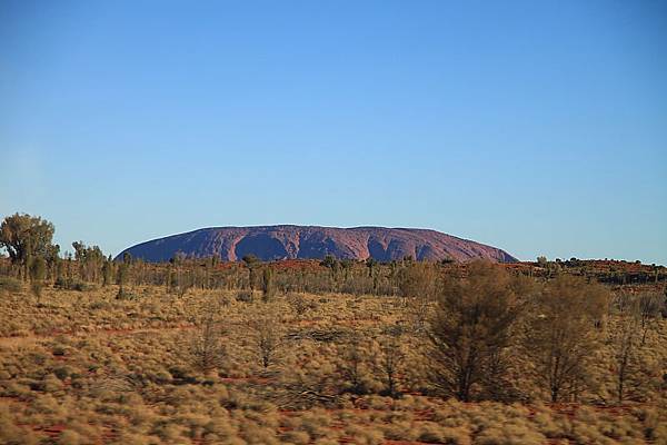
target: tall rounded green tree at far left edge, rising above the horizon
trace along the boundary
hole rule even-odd
[[[7,249],[11,263],[21,267],[27,278],[29,258],[51,256],[53,231],[53,225],[46,219],[17,212],[0,225],[0,247]]]

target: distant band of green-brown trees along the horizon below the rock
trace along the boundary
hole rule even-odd
[[[61,255],[52,243],[51,222],[24,214],[4,218],[0,226],[0,247],[9,258],[0,259],[0,274],[42,285],[83,290],[89,285],[119,285],[120,293],[133,286],[165,286],[170,293],[185,294],[190,288],[260,290],[270,286],[282,291],[345,293],[352,295],[400,295],[402,275],[416,261],[378,263],[336,259],[279,260],[262,263],[248,255],[239,263],[222,263],[217,257],[188,258],[177,254],[167,263],[146,263],[129,254],[112,260],[98,246],[72,243],[73,254]],[[467,266],[451,260],[434,265],[437,277],[465,276]],[[515,275],[552,279],[561,274],[586,277],[609,285],[653,285],[664,288],[667,268],[638,261],[569,260],[504,266]]]

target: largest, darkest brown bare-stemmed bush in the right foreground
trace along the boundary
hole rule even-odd
[[[504,374],[521,301],[531,289],[527,278],[490,263],[472,263],[468,271],[465,279],[445,283],[427,328],[431,383],[464,402],[477,388],[489,389],[491,370]]]

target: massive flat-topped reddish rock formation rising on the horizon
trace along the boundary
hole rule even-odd
[[[323,258],[391,261],[407,256],[419,260],[485,258],[514,263],[515,257],[496,247],[436,230],[385,227],[335,228],[317,226],[212,227],[141,243],[121,251],[146,261],[167,261],[177,253],[189,257],[219,256],[240,260],[252,254],[262,260]]]

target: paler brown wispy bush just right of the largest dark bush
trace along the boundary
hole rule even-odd
[[[599,348],[597,327],[608,291],[584,278],[563,275],[535,299],[525,330],[525,353],[535,365],[535,378],[551,402],[575,398],[585,384],[590,360]]]

